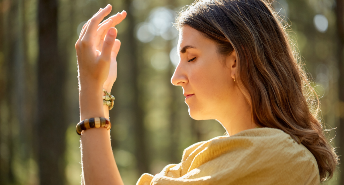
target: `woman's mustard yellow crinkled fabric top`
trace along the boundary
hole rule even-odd
[[[137,185],[318,185],[312,153],[279,129],[255,128],[189,146],[179,164]]]

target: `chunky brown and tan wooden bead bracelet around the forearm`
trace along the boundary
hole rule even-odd
[[[99,128],[99,127],[105,127],[108,130],[110,130],[111,128],[110,120],[103,117],[85,119],[76,125],[76,133],[78,135],[81,135],[81,132],[83,130],[90,129],[90,128]]]

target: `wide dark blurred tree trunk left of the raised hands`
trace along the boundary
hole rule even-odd
[[[39,59],[37,64],[38,164],[42,185],[65,183],[64,114],[66,64],[57,46],[57,0],[39,0]]]

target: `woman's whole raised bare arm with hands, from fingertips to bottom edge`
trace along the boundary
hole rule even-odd
[[[111,6],[100,9],[85,25],[75,44],[78,59],[80,120],[92,117],[108,118],[109,110],[103,106],[103,87],[109,92],[117,76],[116,56],[120,42],[113,28],[126,12],[105,20]],[[122,185],[111,149],[110,132],[106,128],[82,131],[81,156],[83,184]]]

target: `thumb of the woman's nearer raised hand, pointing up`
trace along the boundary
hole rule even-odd
[[[112,46],[115,43],[116,36],[117,29],[114,27],[110,28],[105,36],[103,48],[101,49],[100,54],[100,57],[103,58],[105,61],[110,61],[111,59],[111,50]]]

